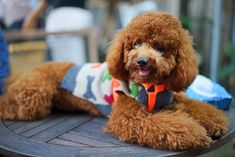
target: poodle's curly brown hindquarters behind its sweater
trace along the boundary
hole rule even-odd
[[[0,97],[0,118],[33,120],[47,116],[53,95],[71,66],[69,63],[48,63],[20,76]]]

